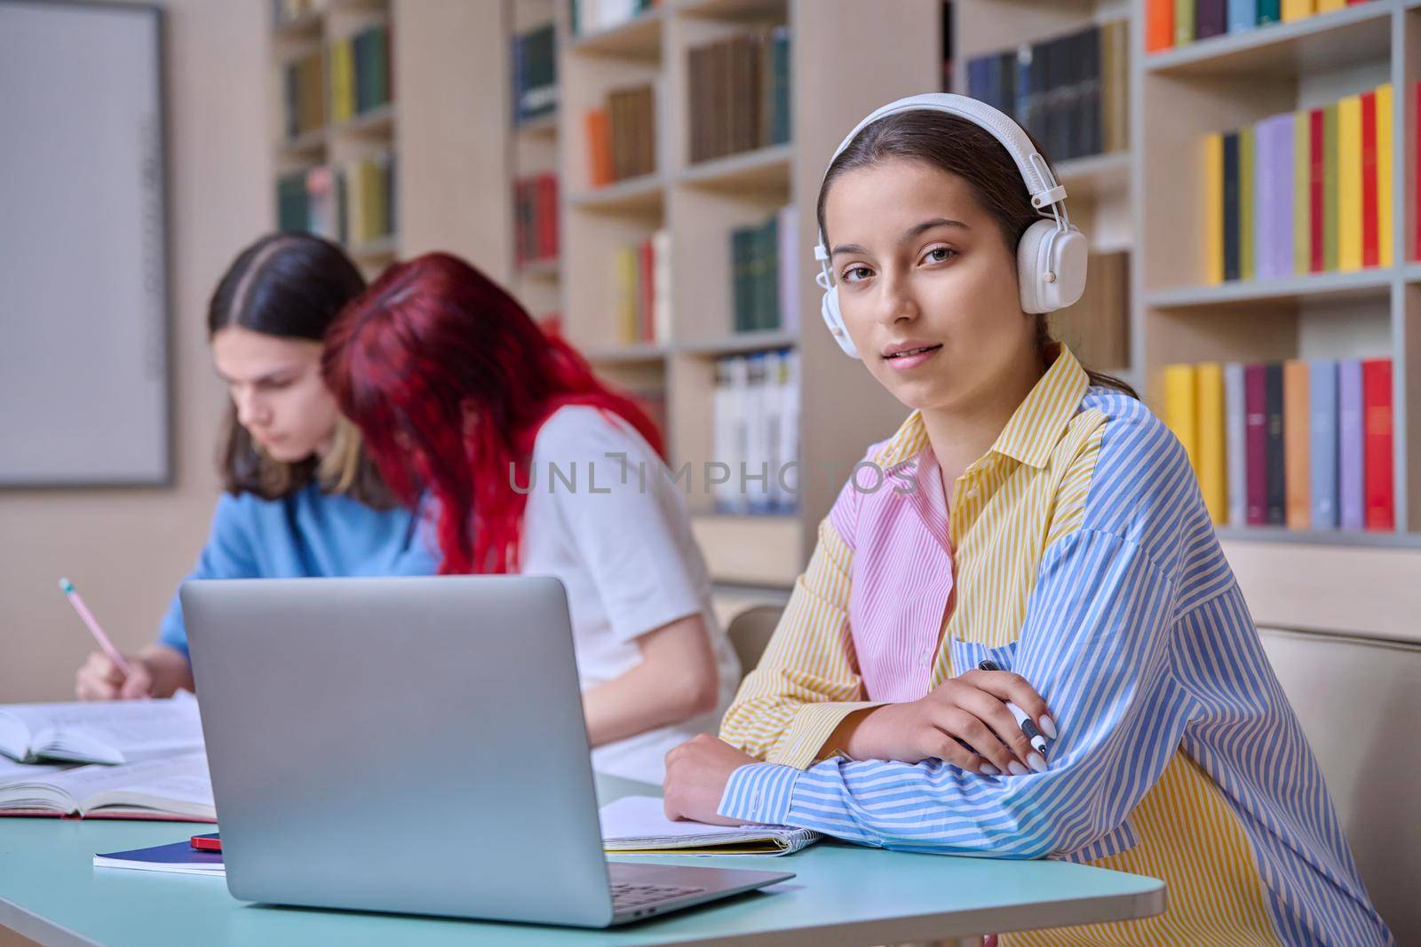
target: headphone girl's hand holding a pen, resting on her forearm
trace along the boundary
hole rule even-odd
[[[824,748],[841,748],[854,760],[942,760],[983,775],[1044,772],[1044,755],[1032,748],[1006,708],[1007,701],[1054,738],[1056,723],[1046,701],[1026,679],[1002,670],[969,670],[919,700],[850,716]]]

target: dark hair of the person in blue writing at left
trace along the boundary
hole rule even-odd
[[[340,247],[304,233],[274,233],[243,250],[223,274],[207,305],[207,338],[229,325],[288,339],[323,342],[341,308],[365,290],[365,278]],[[217,457],[223,487],[276,500],[315,480],[377,510],[395,504],[360,439],[341,419],[335,444],[320,463],[281,463],[257,450],[237,409],[227,406],[226,437]]]

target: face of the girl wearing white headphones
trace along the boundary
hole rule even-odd
[[[848,336],[898,400],[961,410],[1019,373],[1036,317],[963,179],[904,159],[860,168],[830,187],[824,223]]]

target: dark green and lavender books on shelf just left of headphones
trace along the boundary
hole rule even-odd
[[[730,297],[736,332],[799,327],[799,207],[730,231]]]

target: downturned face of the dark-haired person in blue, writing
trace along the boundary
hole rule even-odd
[[[321,381],[321,344],[229,325],[212,336],[212,361],[227,383],[237,423],[273,460],[321,457],[340,409]]]

